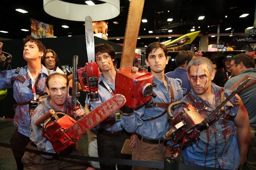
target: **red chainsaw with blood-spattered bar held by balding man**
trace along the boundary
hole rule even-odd
[[[60,152],[75,144],[85,132],[115,113],[125,101],[123,95],[114,95],[78,121],[65,113],[50,109],[35,125],[42,130],[42,136],[51,142],[54,151]]]

